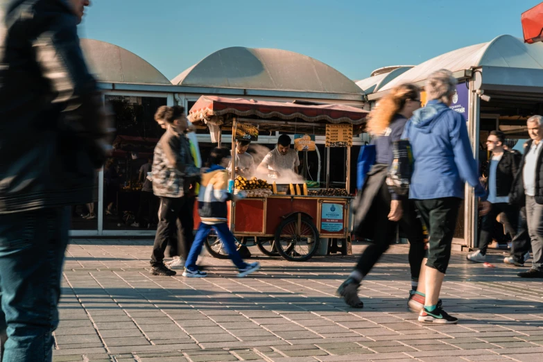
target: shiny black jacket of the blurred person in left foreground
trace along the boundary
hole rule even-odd
[[[95,199],[108,118],[67,0],[0,4],[0,214]]]

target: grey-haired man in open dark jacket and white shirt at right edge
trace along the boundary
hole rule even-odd
[[[524,146],[519,173],[510,193],[510,201],[526,206],[526,223],[533,251],[532,267],[519,277],[543,277],[543,167],[542,142],[543,117],[533,116],[526,122],[530,140]]]

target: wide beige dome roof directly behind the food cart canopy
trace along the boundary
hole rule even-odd
[[[171,83],[194,87],[361,94],[361,89],[352,80],[306,55],[241,46],[208,55]]]

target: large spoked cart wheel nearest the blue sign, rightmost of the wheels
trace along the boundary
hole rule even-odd
[[[310,218],[298,215],[284,219],[275,232],[275,250],[288,261],[306,261],[318,250],[319,234]]]

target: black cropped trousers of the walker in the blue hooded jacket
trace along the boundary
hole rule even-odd
[[[415,200],[430,236],[426,266],[443,274],[447,272],[451,259],[452,239],[460,202],[460,198]]]

